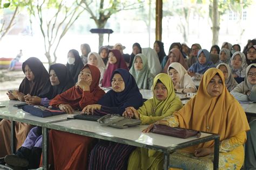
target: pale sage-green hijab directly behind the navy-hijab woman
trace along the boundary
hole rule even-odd
[[[140,57],[143,62],[142,70],[135,70],[135,68],[134,68],[135,60],[138,57]],[[149,89],[150,87],[147,87],[147,84],[148,84],[147,81],[149,80],[149,77],[153,77],[153,75],[150,73],[150,68],[149,68],[149,64],[147,63],[146,56],[144,54],[137,54],[132,63],[133,63],[133,65],[132,65],[131,69],[129,70],[129,72],[134,77],[138,87],[141,89]]]

